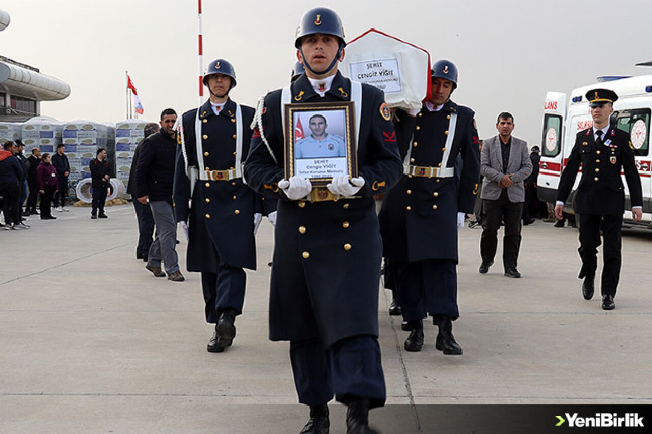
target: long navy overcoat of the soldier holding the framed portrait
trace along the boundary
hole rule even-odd
[[[322,98],[305,74],[291,85],[291,102],[340,102],[351,97],[351,81],[339,72]],[[402,171],[394,126],[383,119],[382,91],[362,85],[357,162],[363,188],[356,199],[289,201],[284,179],[284,135],[280,89],[265,97],[263,130],[274,160],[254,129],[244,175],[257,192],[278,199],[271,279],[271,340],[321,338],[326,347],[357,335],[378,336],[381,258],[372,195],[391,188]]]

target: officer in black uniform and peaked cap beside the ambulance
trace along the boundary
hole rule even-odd
[[[580,214],[580,268],[579,278],[584,278],[582,295],[591,300],[595,291],[595,274],[598,267],[600,230],[604,246],[600,293],[602,309],[615,308],[614,297],[622,265],[623,211],[625,191],[621,171],[625,172],[634,222],[643,216],[643,193],[638,170],[634,164],[632,141],[627,132],[611,126],[613,104],[618,95],[609,89],[593,89],[586,93],[591,108],[593,127],[578,132],[575,145],[561,179],[555,216],[563,219],[564,203],[571,195],[580,164],[582,178],[577,189],[575,212]]]

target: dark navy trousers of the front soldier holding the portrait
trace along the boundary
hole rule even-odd
[[[353,336],[324,348],[320,339],[291,341],[289,355],[299,402],[323,405],[333,399],[348,405],[369,399],[385,405],[385,379],[376,336]]]

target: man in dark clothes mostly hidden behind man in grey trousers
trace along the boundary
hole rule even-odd
[[[150,122],[145,125],[145,138],[158,132],[160,127],[158,124]],[[136,246],[136,259],[142,259],[147,262],[147,254],[149,248],[152,246],[154,235],[154,217],[152,216],[152,209],[149,204],[143,205],[138,201],[136,192],[136,167],[138,166],[138,157],[142,149],[143,142],[141,141],[136,146],[134,156],[131,160],[131,169],[129,171],[129,181],[126,184],[126,192],[132,197],[134,210],[136,211],[136,219],[138,220],[138,245]]]

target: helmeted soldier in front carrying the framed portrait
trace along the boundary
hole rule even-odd
[[[290,341],[299,402],[310,406],[301,433],[327,433],[327,403],[348,405],[348,433],[374,433],[368,409],[385,403],[378,345],[381,242],[374,194],[400,177],[389,107],[379,89],[338,72],[344,29],[333,10],[304,14],[295,46],[305,74],[265,96],[244,175],[257,192],[278,199],[270,297],[270,338]],[[286,103],[353,100],[358,177],[312,188],[284,179]]]

